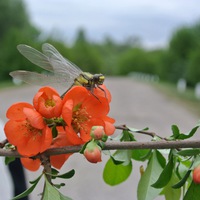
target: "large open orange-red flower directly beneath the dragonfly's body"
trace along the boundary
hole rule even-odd
[[[95,93],[92,94],[86,88],[76,86],[63,99],[62,117],[67,126],[72,127],[74,133],[80,135],[84,142],[91,139],[92,126],[103,126],[106,135],[113,134],[115,130],[114,119],[107,117],[109,101],[105,93],[99,90],[95,88]],[[100,96],[96,96],[98,92]]]

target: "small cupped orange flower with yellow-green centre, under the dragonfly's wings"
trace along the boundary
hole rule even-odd
[[[43,87],[33,98],[35,109],[45,118],[59,117],[62,111],[62,99],[51,87]]]

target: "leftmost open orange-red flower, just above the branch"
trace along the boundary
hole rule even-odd
[[[9,143],[24,156],[34,156],[45,151],[52,142],[51,129],[42,115],[28,103],[13,104],[7,111],[9,121],[4,131]]]

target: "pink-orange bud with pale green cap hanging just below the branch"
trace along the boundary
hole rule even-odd
[[[101,148],[94,141],[91,141],[84,150],[84,156],[91,163],[101,162]]]

